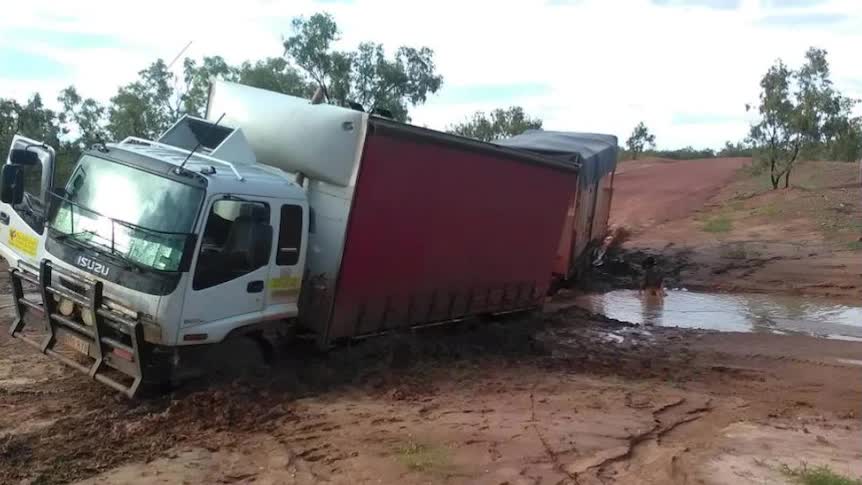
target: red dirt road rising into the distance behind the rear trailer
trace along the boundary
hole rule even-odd
[[[614,179],[611,224],[637,231],[688,216],[729,183],[749,158],[635,160]]]

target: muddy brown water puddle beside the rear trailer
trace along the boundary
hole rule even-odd
[[[660,300],[618,290],[579,295],[575,302],[610,318],[646,325],[862,340],[862,306],[820,298],[670,290]]]

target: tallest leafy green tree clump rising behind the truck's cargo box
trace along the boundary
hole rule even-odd
[[[364,42],[355,51],[338,51],[338,25],[329,14],[293,19],[294,34],[284,41],[285,56],[323,88],[330,103],[360,104],[367,111],[387,110],[399,121],[408,109],[436,93],[443,77],[436,72],[434,51],[400,47],[389,58],[380,44]]]

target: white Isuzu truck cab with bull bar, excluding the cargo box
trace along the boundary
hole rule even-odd
[[[33,341],[40,350],[75,362],[54,350],[59,342],[97,358],[87,372],[133,394],[146,374],[140,364],[155,360],[156,349],[143,355],[143,341],[174,349],[220,342],[297,316],[305,190],[253,163],[250,151],[219,158],[241,136],[184,118],[162,137],[173,144],[129,138],[85,152],[66,187],[44,198],[15,191],[28,171],[52,170],[51,153],[16,141],[3,173],[0,251],[13,287],[23,281],[43,293],[13,291],[20,317],[49,315],[50,335]],[[119,368],[132,384],[102,367]]]

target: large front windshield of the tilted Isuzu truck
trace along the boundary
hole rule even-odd
[[[60,238],[138,266],[177,271],[203,196],[200,188],[84,155],[50,226]]]

